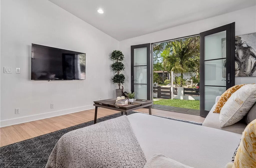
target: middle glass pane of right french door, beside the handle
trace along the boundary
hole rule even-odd
[[[225,64],[226,59],[205,61],[205,85],[226,86]]]

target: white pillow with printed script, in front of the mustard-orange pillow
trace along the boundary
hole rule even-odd
[[[244,85],[234,92],[220,110],[220,127],[240,121],[256,102],[256,85]]]

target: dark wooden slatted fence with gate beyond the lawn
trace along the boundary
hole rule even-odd
[[[171,99],[172,98],[172,91],[171,87],[153,87],[153,93],[157,93],[157,98],[162,99]],[[178,88],[173,88],[173,94],[178,94]],[[196,88],[184,88],[184,95],[188,96],[200,96],[199,89]]]

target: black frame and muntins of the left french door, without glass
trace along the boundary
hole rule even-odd
[[[147,85],[147,100],[151,100],[151,43],[139,44],[131,46],[131,91],[134,92],[134,49],[135,48],[145,48],[147,47],[147,83],[142,83],[142,85]],[[136,65],[145,66],[145,65]],[[135,85],[141,85],[136,84]]]

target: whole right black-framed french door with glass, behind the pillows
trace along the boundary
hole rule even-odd
[[[200,116],[235,84],[235,22],[200,33]]]

